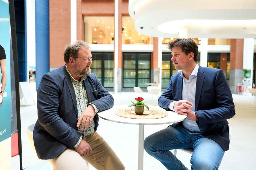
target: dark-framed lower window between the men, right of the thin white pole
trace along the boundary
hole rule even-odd
[[[150,83],[151,53],[123,53],[123,87],[147,87]]]

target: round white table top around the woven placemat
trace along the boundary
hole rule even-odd
[[[108,110],[98,113],[98,116],[100,118],[108,120],[108,121],[117,122],[117,123],[125,123],[125,124],[133,124],[133,125],[171,124],[171,123],[183,121],[187,117],[185,115],[180,115],[178,113],[174,113],[173,111],[167,111],[168,115],[166,117],[162,117],[162,118],[158,118],[158,119],[131,119],[131,118],[120,117],[115,114],[115,111],[117,109],[128,108],[127,106],[128,105],[114,106],[111,109],[108,109]],[[149,109],[151,109],[151,108],[162,109],[159,106],[149,105],[148,107],[149,107]]]

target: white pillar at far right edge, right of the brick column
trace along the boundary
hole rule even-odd
[[[253,80],[253,54],[254,54],[254,38],[244,38],[243,69],[251,70],[250,87],[252,87],[252,80]]]

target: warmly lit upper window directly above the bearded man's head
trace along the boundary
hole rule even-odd
[[[84,17],[85,41],[88,44],[114,44],[114,17]]]

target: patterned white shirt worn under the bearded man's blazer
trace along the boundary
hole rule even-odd
[[[74,90],[75,90],[75,93],[76,93],[76,103],[77,103],[77,111],[78,111],[78,117],[81,116],[81,114],[83,113],[83,111],[87,108],[87,104],[88,104],[88,98],[87,98],[87,93],[86,93],[86,90],[85,90],[85,85],[83,83],[83,81],[87,78],[86,76],[83,76],[81,77],[81,81],[77,81],[75,80],[71,74],[69,73],[68,71],[68,68],[67,66],[65,65],[66,67],[66,70],[71,78],[71,81],[72,81],[72,84],[73,84],[73,87],[74,87]],[[88,104],[89,105],[89,104]],[[99,108],[90,103],[90,105],[93,106],[94,110],[95,110],[95,114],[99,111]],[[85,130],[81,130],[81,124],[80,126],[78,127],[78,132],[81,134],[80,136],[80,139],[78,140],[78,142],[76,143],[76,145],[74,146],[74,148],[76,148],[83,137],[85,136],[88,136],[89,134],[93,133],[94,132],[94,127],[95,127],[95,124],[94,124],[94,121],[92,123],[92,126],[89,127]]]

